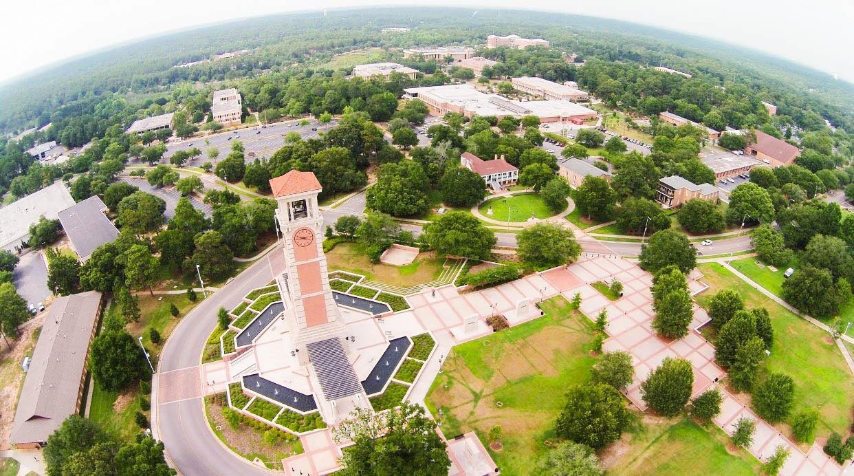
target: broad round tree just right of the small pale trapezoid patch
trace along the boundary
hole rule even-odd
[[[496,242],[492,230],[460,211],[447,212],[425,226],[424,240],[436,253],[477,260],[487,259]]]

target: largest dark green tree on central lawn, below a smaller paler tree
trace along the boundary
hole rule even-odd
[[[617,441],[629,422],[629,410],[611,385],[573,385],[555,421],[555,433],[594,450]]]

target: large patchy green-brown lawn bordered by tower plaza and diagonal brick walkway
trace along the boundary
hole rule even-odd
[[[447,438],[500,425],[504,450],[493,452],[505,474],[528,474],[547,447],[564,391],[588,379],[592,324],[556,297],[546,315],[453,348],[426,402]],[[497,403],[501,403],[501,407]]]

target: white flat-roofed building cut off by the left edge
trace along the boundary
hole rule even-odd
[[[59,211],[74,204],[61,181],[34,191],[0,209],[0,249],[19,251],[30,238],[30,226],[42,216],[56,220]]]

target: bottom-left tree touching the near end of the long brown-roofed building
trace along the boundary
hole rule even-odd
[[[95,421],[85,419],[79,414],[71,414],[48,437],[48,444],[43,452],[47,473],[65,474],[67,462],[73,455],[106,440],[107,435]]]

